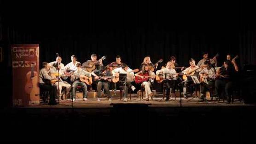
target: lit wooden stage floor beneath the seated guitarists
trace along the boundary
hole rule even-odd
[[[198,98],[171,98],[169,101],[162,99],[161,95],[154,97],[153,100],[146,101],[145,99],[140,100],[136,95],[132,96],[132,99],[128,98],[127,102],[120,100],[120,98],[112,98],[111,101],[108,101],[107,98],[100,98],[101,101],[96,101],[96,98],[88,98],[88,101],[83,101],[82,99],[76,99],[73,103],[74,108],[112,108],[112,104],[148,104],[149,107],[218,107],[218,106],[246,106],[240,102],[238,99],[235,99],[233,104],[226,104],[226,101],[223,103],[223,100],[220,101],[210,101],[198,102]],[[57,105],[48,105],[48,104],[31,104],[27,108],[72,108],[72,101],[70,99],[61,100],[60,104]]]

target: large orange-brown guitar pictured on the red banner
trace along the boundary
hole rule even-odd
[[[37,72],[34,71],[34,67],[31,67],[31,71],[26,74],[27,82],[25,85],[25,92],[31,94],[32,91],[37,87]]]

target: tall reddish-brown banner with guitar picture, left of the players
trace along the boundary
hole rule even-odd
[[[13,105],[39,104],[39,45],[12,45],[11,54]]]

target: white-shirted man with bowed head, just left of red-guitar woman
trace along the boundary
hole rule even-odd
[[[134,71],[130,69],[127,64],[123,63],[122,67],[116,68],[111,71],[113,76],[119,77],[119,74],[127,74],[126,86],[124,86],[124,95],[123,101],[127,101],[128,87],[131,87],[132,90],[135,90],[135,87],[132,86],[132,81],[134,81]]]

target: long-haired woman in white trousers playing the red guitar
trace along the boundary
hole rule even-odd
[[[141,79],[144,79],[143,75],[149,75],[153,79],[155,77],[155,74],[151,72],[147,65],[145,65],[141,71],[135,74],[135,76],[139,76]],[[145,95],[146,95],[146,101],[149,101],[149,96],[152,97],[152,92],[150,89],[151,81],[148,79],[148,81],[142,82],[142,85],[145,86]]]

